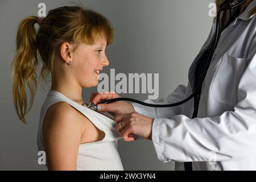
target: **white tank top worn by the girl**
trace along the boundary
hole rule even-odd
[[[115,130],[115,121],[89,109],[86,106],[82,106],[77,102],[72,101],[68,97],[64,96],[64,94],[61,94],[55,90],[49,90],[49,93],[47,94],[46,100],[44,101],[40,111],[40,121],[38,127],[38,150],[45,151],[42,135],[42,125],[46,112],[49,106],[60,101],[68,102],[68,104],[79,110],[90,120],[90,122],[92,122],[98,129],[104,131],[105,133],[104,139],[98,142],[80,144],[77,154],[77,170],[123,170],[122,162],[117,151],[117,140],[121,137]]]

